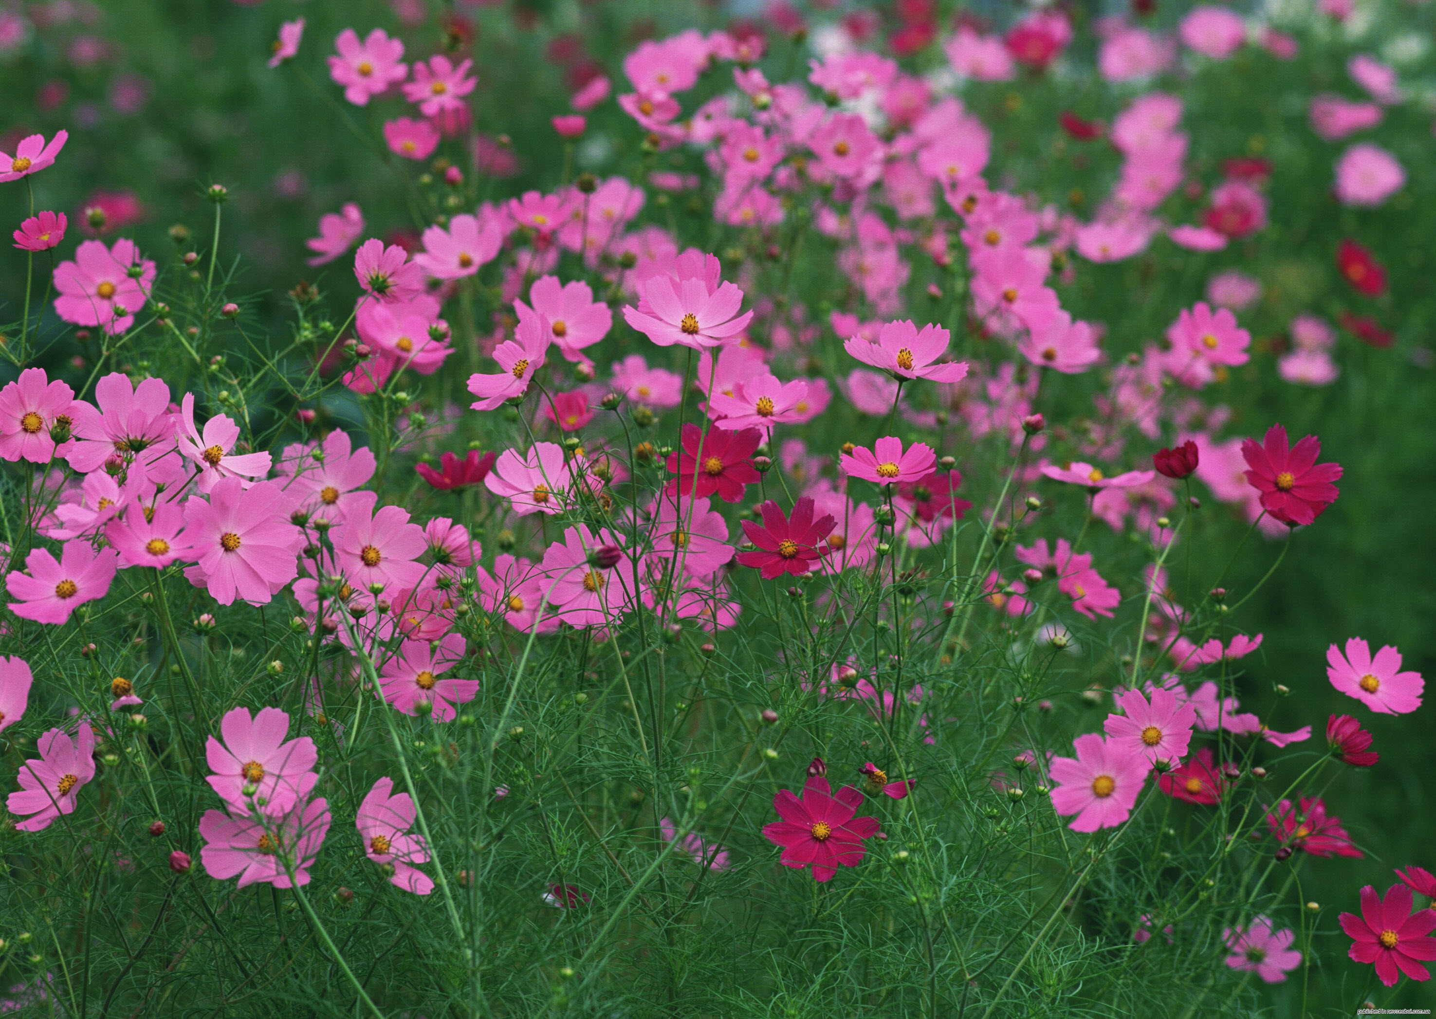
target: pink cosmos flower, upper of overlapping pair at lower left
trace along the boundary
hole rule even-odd
[[[279,708],[234,708],[220,719],[221,743],[210,736],[204,755],[210,764],[205,781],[224,802],[241,811],[256,805],[266,814],[289,811],[313,788],[319,751],[309,736],[289,739],[289,713]]]

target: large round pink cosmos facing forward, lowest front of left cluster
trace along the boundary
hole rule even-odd
[[[240,478],[224,478],[210,489],[210,499],[185,501],[184,541],[195,565],[184,571],[221,606],[243,598],[267,604],[299,576],[303,532],[289,521],[293,499],[273,481],[246,488]]]

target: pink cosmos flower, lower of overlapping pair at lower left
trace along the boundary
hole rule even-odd
[[[205,842],[200,860],[215,881],[238,874],[241,888],[256,883],[276,888],[306,886],[309,868],[314,865],[319,847],[329,834],[330,820],[329,804],[323,798],[294,804],[277,818],[237,818],[210,809],[200,818],[200,837]],[[294,873],[293,884],[290,870]]]

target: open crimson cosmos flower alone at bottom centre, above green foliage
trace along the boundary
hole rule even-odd
[[[814,881],[831,880],[839,867],[856,867],[867,853],[863,840],[877,834],[877,818],[853,817],[863,805],[862,792],[852,785],[830,789],[821,775],[803,785],[803,799],[778,789],[773,809],[783,820],[763,825],[763,837],[783,847],[778,863],[797,870],[813,864]]]

